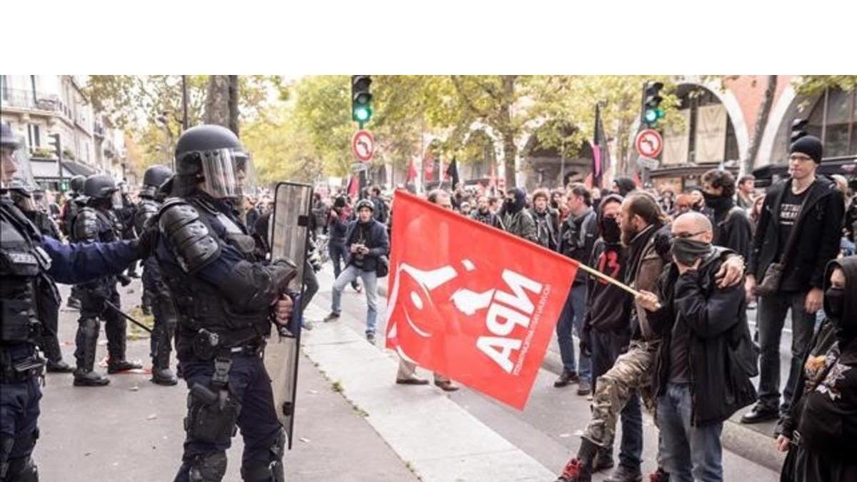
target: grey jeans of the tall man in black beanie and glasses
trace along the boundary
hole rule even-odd
[[[788,411],[794,386],[802,373],[800,363],[812,340],[816,323],[815,313],[804,310],[805,300],[806,292],[778,292],[758,298],[758,345],[761,350],[758,404],[766,409],[776,410],[780,405],[780,337],[789,309],[792,311],[792,362],[786,387],[782,390],[781,413]]]

